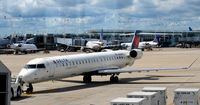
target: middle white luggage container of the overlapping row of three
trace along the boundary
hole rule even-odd
[[[127,98],[146,98],[148,105],[159,105],[157,92],[132,92],[127,95]]]

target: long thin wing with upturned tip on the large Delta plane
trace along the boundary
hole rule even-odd
[[[142,69],[110,69],[110,70],[99,70],[98,73],[112,74],[112,73],[125,73],[125,72],[131,73],[131,72],[160,71],[160,70],[186,70],[186,69],[189,69],[197,61],[197,59],[195,59],[188,67],[177,67],[177,68],[142,68]]]

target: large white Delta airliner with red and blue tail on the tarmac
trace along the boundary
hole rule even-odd
[[[137,41],[137,42],[136,42]],[[132,39],[131,50],[117,50],[108,52],[94,52],[75,55],[36,58],[29,61],[20,71],[18,78],[27,86],[27,93],[33,92],[33,83],[48,80],[58,80],[72,76],[83,75],[84,83],[91,83],[93,75],[111,75],[110,82],[118,82],[118,75],[125,72],[179,70],[180,68],[150,68],[150,69],[122,69],[131,66],[143,55],[137,47],[139,41]]]

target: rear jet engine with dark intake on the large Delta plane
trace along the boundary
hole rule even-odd
[[[129,53],[130,57],[135,58],[135,59],[140,59],[143,55],[143,52],[139,49],[133,49]]]

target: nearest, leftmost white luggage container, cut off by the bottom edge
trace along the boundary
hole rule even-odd
[[[145,98],[116,98],[110,102],[110,105],[149,105]]]

